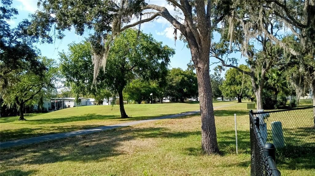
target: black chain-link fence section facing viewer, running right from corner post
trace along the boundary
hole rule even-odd
[[[288,153],[297,147],[301,151],[314,149],[315,106],[255,112],[253,116],[259,118],[264,142],[273,143],[277,150]]]

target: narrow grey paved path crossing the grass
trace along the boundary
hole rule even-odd
[[[226,107],[226,106],[231,106],[231,105],[233,105],[233,104],[216,106],[216,107],[214,107],[214,109],[222,108],[222,107]],[[31,138],[27,138],[27,139],[19,139],[19,140],[14,140],[14,141],[0,142],[0,148],[15,147],[15,146],[19,146],[19,145],[26,145],[26,144],[49,141],[49,140],[53,140],[53,139],[60,139],[60,138],[65,138],[65,137],[73,137],[73,136],[78,136],[78,135],[83,135],[83,134],[90,134],[93,132],[101,132],[101,131],[119,128],[119,127],[127,127],[127,126],[131,126],[131,125],[137,125],[139,123],[153,122],[153,121],[157,121],[157,120],[161,120],[161,119],[168,119],[168,118],[175,118],[175,117],[182,117],[182,116],[189,116],[189,115],[197,114],[199,112],[200,112],[200,110],[189,111],[189,112],[183,112],[180,114],[161,116],[161,117],[156,117],[156,118],[147,119],[147,120],[139,120],[139,121],[133,121],[133,122],[119,123],[119,124],[90,128],[90,129],[79,130],[79,131],[74,131],[74,132],[57,133],[57,134],[51,134],[51,135],[46,135],[46,136],[31,137]]]

